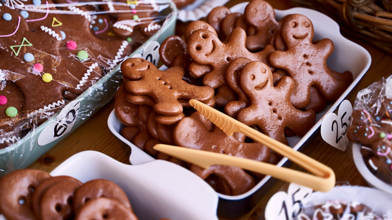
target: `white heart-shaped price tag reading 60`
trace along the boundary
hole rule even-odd
[[[49,124],[38,137],[38,145],[49,144],[72,130],[79,112],[79,101],[69,102],[57,115],[56,121]]]

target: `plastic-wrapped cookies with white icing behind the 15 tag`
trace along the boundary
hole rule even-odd
[[[296,220],[392,219],[387,193],[362,186],[335,186],[329,192],[313,192],[303,200]]]

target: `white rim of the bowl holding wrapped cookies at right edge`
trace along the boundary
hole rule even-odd
[[[354,160],[354,164],[357,167],[359,173],[363,176],[363,178],[371,187],[392,194],[392,185],[387,184],[384,181],[378,179],[370,172],[369,168],[367,168],[365,164],[365,161],[363,161],[363,156],[360,150],[361,150],[360,144],[358,143],[352,144],[352,158]]]

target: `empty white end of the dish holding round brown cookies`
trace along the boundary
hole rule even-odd
[[[81,182],[113,181],[128,195],[140,220],[218,219],[215,191],[199,176],[164,160],[127,165],[97,151],[83,151],[50,174],[72,176]]]

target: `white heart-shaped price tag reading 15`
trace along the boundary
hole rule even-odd
[[[290,183],[287,192],[279,191],[268,201],[265,207],[266,220],[291,220],[304,211],[307,198],[312,194],[311,188]]]

